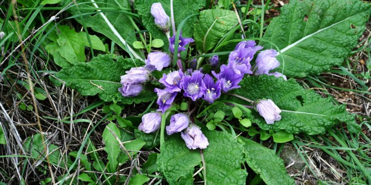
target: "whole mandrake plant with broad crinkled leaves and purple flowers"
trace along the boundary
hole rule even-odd
[[[110,52],[108,44],[86,30],[77,33],[66,25],[49,25],[43,43],[61,68],[49,76],[54,84],[106,102],[102,110],[110,123],[102,139],[107,162],[93,163],[95,169],[119,172],[140,149],[157,148],[134,172],[103,184],[141,185],[157,178],[157,184],[293,185],[282,159],[251,136],[285,143],[295,134],[324,134],[334,125],[361,131],[345,105],[303,88],[296,78],[342,64],[365,30],[369,3],[290,0],[266,27],[245,18],[256,9],[238,12],[230,1],[214,7],[205,0],[135,0],[136,19],[145,28],[139,30],[131,24],[133,17],[109,11],[113,1],[76,0],[78,6],[67,11],[127,56]],[[133,11],[129,1],[120,4]],[[264,20],[264,5],[260,10],[258,18]],[[105,54],[85,62],[85,47]],[[122,114],[125,106],[138,104],[146,108]],[[31,143],[29,138],[26,148],[39,157],[42,142],[33,143],[39,147],[35,150]],[[89,160],[95,159],[82,154],[84,145],[69,154],[76,159],[67,163],[68,172],[78,160],[93,169]],[[63,154],[54,150],[48,155],[56,164]],[[258,176],[251,180],[248,171]],[[78,178],[89,184],[98,179],[88,172]],[[68,173],[57,182],[74,183]]]

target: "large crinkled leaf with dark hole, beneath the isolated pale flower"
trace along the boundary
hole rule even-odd
[[[357,131],[359,126],[354,116],[345,110],[345,105],[335,106],[330,98],[322,98],[312,89],[305,90],[294,79],[285,81],[275,76],[261,75],[245,77],[241,88],[232,93],[256,101],[271,99],[281,112],[281,120],[267,124],[256,110],[252,114],[255,122],[264,130],[285,130],[287,133],[307,133],[310,135],[325,133],[327,128],[345,122],[350,131]],[[231,97],[223,98],[248,105],[247,102]]]

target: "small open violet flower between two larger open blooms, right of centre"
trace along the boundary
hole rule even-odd
[[[208,101],[209,103],[214,103],[214,100],[220,97],[221,94],[221,86],[220,81],[218,80],[216,83],[214,82],[214,78],[209,74],[205,74],[203,77],[203,82],[205,84],[203,91],[203,99]]]

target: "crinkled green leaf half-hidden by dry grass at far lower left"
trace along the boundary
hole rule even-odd
[[[26,139],[24,147],[27,152],[30,152],[35,161],[37,160],[46,160],[46,152],[48,151],[48,158],[50,163],[58,165],[58,160],[61,155],[60,150],[56,145],[43,143],[41,134],[35,134]],[[45,150],[47,147],[47,150]],[[52,152],[51,152],[52,151]]]

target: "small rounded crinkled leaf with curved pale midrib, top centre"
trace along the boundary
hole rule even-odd
[[[197,50],[206,53],[237,24],[236,14],[231,10],[215,8],[201,11],[193,34]]]

